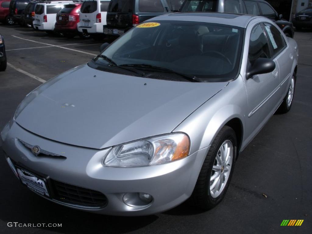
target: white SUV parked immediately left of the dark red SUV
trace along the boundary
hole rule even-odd
[[[52,33],[56,22],[56,14],[64,8],[64,5],[72,2],[73,1],[38,3],[35,8],[35,20],[32,22],[34,28]]]

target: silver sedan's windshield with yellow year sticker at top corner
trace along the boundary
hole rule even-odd
[[[238,71],[242,38],[240,27],[185,21],[148,22],[117,39],[102,55],[119,66],[144,64],[201,79],[230,80]],[[101,57],[94,61],[108,65]]]

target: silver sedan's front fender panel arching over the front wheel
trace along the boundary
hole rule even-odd
[[[210,146],[217,133],[231,119],[242,124],[242,142],[247,113],[247,94],[241,76],[201,105],[173,131],[185,132],[191,141],[190,154]]]

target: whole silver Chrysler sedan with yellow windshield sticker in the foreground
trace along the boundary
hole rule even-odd
[[[298,47],[264,17],[168,14],[101,49],[29,93],[1,133],[22,184],[67,207],[208,210],[238,154],[292,105]]]

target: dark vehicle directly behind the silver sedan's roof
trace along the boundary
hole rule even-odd
[[[264,16],[275,22],[287,37],[294,37],[291,22],[282,19],[264,0],[185,0],[179,12],[229,12]]]

